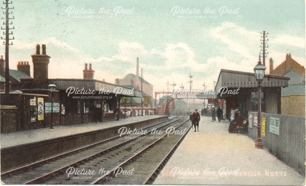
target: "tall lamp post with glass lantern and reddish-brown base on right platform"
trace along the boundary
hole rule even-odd
[[[254,74],[258,82],[257,138],[255,141],[256,148],[263,148],[263,143],[261,142],[261,124],[260,124],[260,112],[261,112],[260,83],[263,81],[263,76],[265,75],[265,71],[266,71],[266,67],[261,64],[260,55],[259,55],[258,64],[254,67]]]

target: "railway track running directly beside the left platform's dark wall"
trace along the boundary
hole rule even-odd
[[[177,122],[179,119],[169,119],[159,122],[141,129],[151,131],[153,128],[162,128],[172,123]],[[63,169],[82,163],[95,156],[103,155],[113,149],[120,148],[141,137],[143,134],[125,134],[116,136],[107,140],[103,140],[94,144],[90,144],[72,151],[55,155],[48,159],[43,159],[38,162],[31,163],[1,174],[2,182],[6,184],[33,184],[40,183],[46,178],[54,177]],[[128,137],[128,138],[127,138]]]

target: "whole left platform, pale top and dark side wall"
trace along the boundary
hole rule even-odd
[[[54,126],[1,134],[1,171],[37,162],[59,153],[118,136],[121,127],[139,129],[168,120],[164,115],[147,115],[69,126]]]

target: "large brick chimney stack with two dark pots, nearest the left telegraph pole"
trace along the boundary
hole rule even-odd
[[[40,54],[40,45],[36,45],[36,53],[31,55],[33,61],[33,79],[36,88],[48,88],[48,64],[50,56],[46,54],[46,45],[42,45],[43,54]]]

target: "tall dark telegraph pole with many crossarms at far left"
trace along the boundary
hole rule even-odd
[[[6,100],[9,100],[9,45],[13,45],[13,42],[9,44],[9,40],[15,39],[14,37],[9,38],[9,35],[13,34],[13,31],[9,33],[9,30],[15,29],[15,27],[13,28],[9,27],[10,24],[13,24],[13,21],[9,23],[9,20],[14,19],[14,16],[13,18],[9,18],[9,14],[13,13],[13,12],[9,13],[9,9],[14,9],[14,7],[9,8],[9,4],[13,4],[12,1],[9,3],[9,1],[6,0],[5,2],[3,2],[3,4],[5,5],[5,8],[1,7],[1,9],[5,9],[5,13],[3,12],[3,14],[5,14],[5,20],[6,20],[5,22],[3,22],[3,24],[6,27],[5,28],[1,27],[1,30],[5,30],[5,33],[3,32],[3,34],[5,35],[5,38],[4,38],[5,41],[3,42],[3,45],[5,45],[5,95],[6,95]],[[1,19],[4,20],[3,17],[1,17]],[[1,39],[3,38],[1,37]]]

